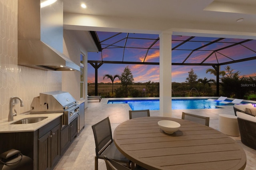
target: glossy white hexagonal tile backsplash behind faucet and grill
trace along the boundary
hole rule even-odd
[[[0,120],[8,118],[10,97],[23,100],[17,113],[30,110],[34,97],[62,90],[62,72],[23,67],[18,63],[18,0],[0,0]]]

